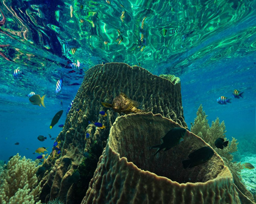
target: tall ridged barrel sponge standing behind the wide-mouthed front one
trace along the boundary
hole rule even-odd
[[[79,200],[72,198],[80,181],[77,184],[71,183],[69,177],[84,162],[84,153],[90,150],[94,141],[97,141],[102,149],[105,147],[110,127],[119,117],[117,112],[103,107],[101,102],[112,103],[113,99],[123,92],[131,100],[140,103],[139,109],[162,114],[163,117],[187,127],[183,119],[180,89],[180,83],[174,85],[171,81],[152,75],[148,70],[137,66],[107,63],[91,67],[57,138],[61,141],[62,156],[54,160],[48,158],[44,164],[46,171],[38,177],[43,185],[40,195],[42,202],[60,197],[66,203],[79,203]],[[99,114],[101,110],[107,113],[107,117]],[[88,124],[88,121],[91,121],[91,124]],[[96,128],[93,122],[102,123],[106,128]],[[90,138],[85,140],[87,133]],[[63,159],[68,158],[71,163],[66,164]],[[98,158],[92,158],[94,162],[98,162]],[[92,177],[94,170],[91,168],[88,175]]]

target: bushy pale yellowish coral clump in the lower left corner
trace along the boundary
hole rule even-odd
[[[37,202],[41,187],[37,185],[35,173],[37,163],[19,154],[7,163],[7,169],[1,174],[0,203],[1,204],[31,204]]]

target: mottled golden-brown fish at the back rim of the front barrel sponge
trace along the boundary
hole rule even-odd
[[[104,107],[111,107],[115,112],[118,112],[119,114],[136,114],[144,112],[144,110],[138,109],[140,103],[131,100],[124,93],[121,93],[115,97],[112,101],[112,104],[105,102],[101,102],[101,104]]]

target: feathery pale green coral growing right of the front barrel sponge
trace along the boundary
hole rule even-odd
[[[241,163],[233,163],[233,155],[231,153],[237,151],[238,142],[235,138],[232,137],[232,141],[229,142],[228,146],[224,149],[218,149],[215,147],[215,140],[217,138],[225,138],[226,135],[226,127],[224,121],[219,123],[219,118],[215,121],[212,121],[212,126],[210,127],[207,120],[207,115],[205,114],[204,110],[202,109],[202,104],[199,106],[197,113],[197,117],[194,119],[194,123],[191,123],[190,131],[194,134],[201,137],[205,142],[210,144],[212,148],[221,156],[221,158],[225,161],[225,165],[229,167],[230,171],[232,172],[234,183],[237,191],[241,191],[241,194],[246,195],[249,199],[254,200],[252,194],[247,191],[243,183],[241,183],[241,169],[243,166]],[[227,138],[225,138],[227,140]],[[242,197],[242,196],[240,196]]]

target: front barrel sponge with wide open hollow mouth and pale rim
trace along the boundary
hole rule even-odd
[[[241,203],[216,152],[207,163],[183,169],[188,154],[208,146],[193,133],[187,131],[180,144],[153,156],[149,146],[174,127],[180,126],[160,114],[118,117],[82,203]]]

